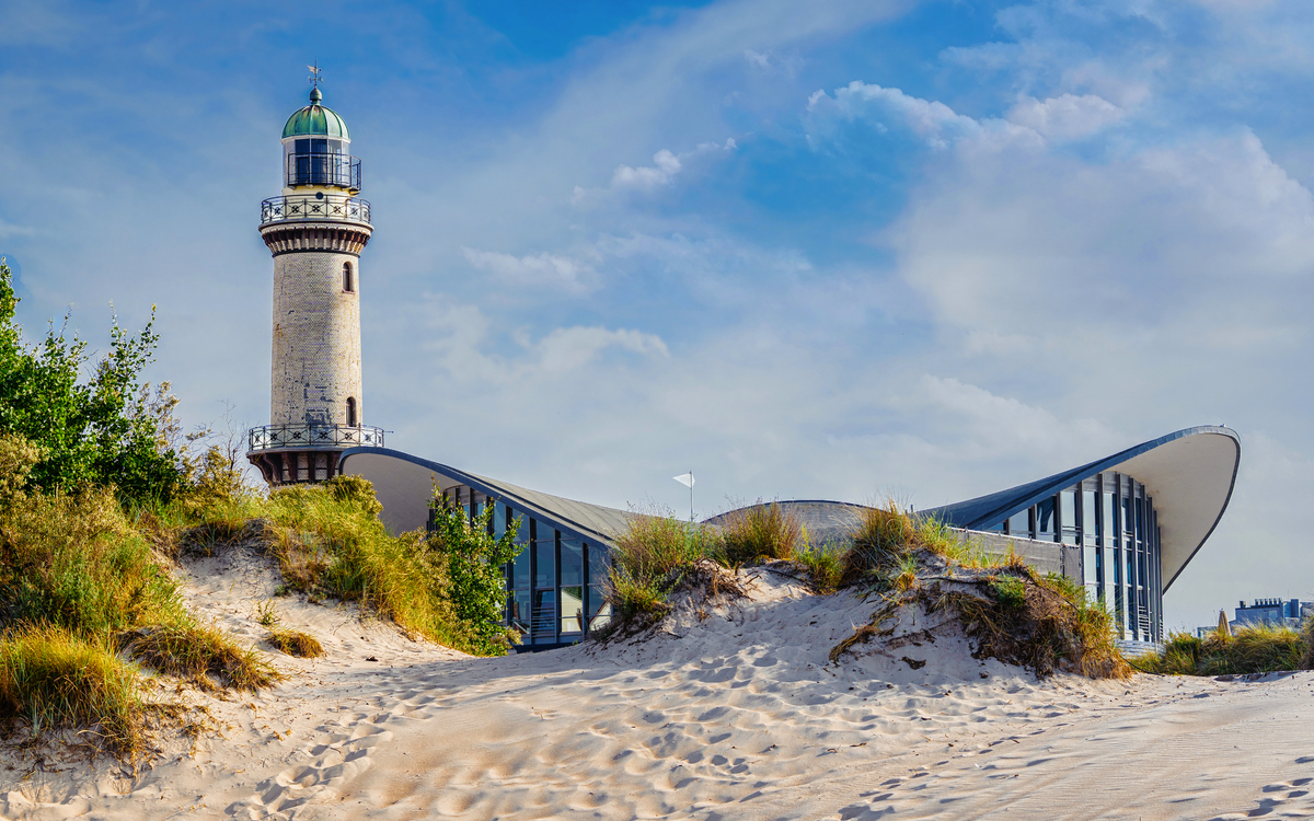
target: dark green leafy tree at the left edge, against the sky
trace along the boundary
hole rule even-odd
[[[84,380],[87,343],[51,323],[45,340],[29,347],[14,321],[17,305],[13,275],[0,260],[0,433],[41,448],[28,482],[46,491],[114,485],[125,500],[171,497],[183,470],[162,437],[150,386],[139,385],[159,342],[155,307],[135,336],[114,321],[109,352]]]

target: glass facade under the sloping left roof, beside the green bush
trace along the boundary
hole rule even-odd
[[[611,620],[603,590],[606,545],[572,536],[557,529],[557,521],[518,511],[466,486],[448,487],[443,499],[472,519],[493,504],[494,537],[519,523],[515,541],[522,550],[505,567],[505,624],[520,634],[520,646],[573,644]]]

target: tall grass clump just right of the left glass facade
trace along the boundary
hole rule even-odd
[[[607,600],[620,621],[660,616],[669,610],[668,594],[695,562],[721,556],[716,528],[669,515],[636,514],[615,539],[604,585]]]

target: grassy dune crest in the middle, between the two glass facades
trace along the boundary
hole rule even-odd
[[[841,641],[832,661],[861,642],[888,637],[892,619],[918,608],[954,613],[982,657],[1022,665],[1041,678],[1056,670],[1091,678],[1130,674],[1116,646],[1113,619],[1100,603],[1088,602],[1081,587],[1060,575],[1041,575],[1017,556],[987,554],[941,521],[890,502],[865,508],[845,545],[815,548],[779,504],[758,504],[752,512],[729,518],[725,528],[636,516],[616,539],[607,587],[616,620],[599,638],[633,634],[661,620],[677,590],[715,575],[699,570],[706,562],[790,562],[820,595],[851,590],[874,599],[870,623]]]

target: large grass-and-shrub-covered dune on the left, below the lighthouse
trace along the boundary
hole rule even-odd
[[[41,493],[24,482],[38,456],[0,435],[0,722],[11,729],[79,730],[134,758],[151,716],[168,712],[143,696],[143,677],[202,690],[276,683],[264,652],[184,606],[173,573],[177,561],[239,543],[279,566],[286,595],[352,602],[363,617],[473,654],[510,646],[501,611],[489,608],[499,577],[489,586],[515,546],[493,540],[486,521],[440,511],[438,533],[393,536],[369,483],[352,477],[264,494],[202,472],[191,491],[148,504],[95,485]],[[322,652],[286,629],[268,642],[302,657]]]

